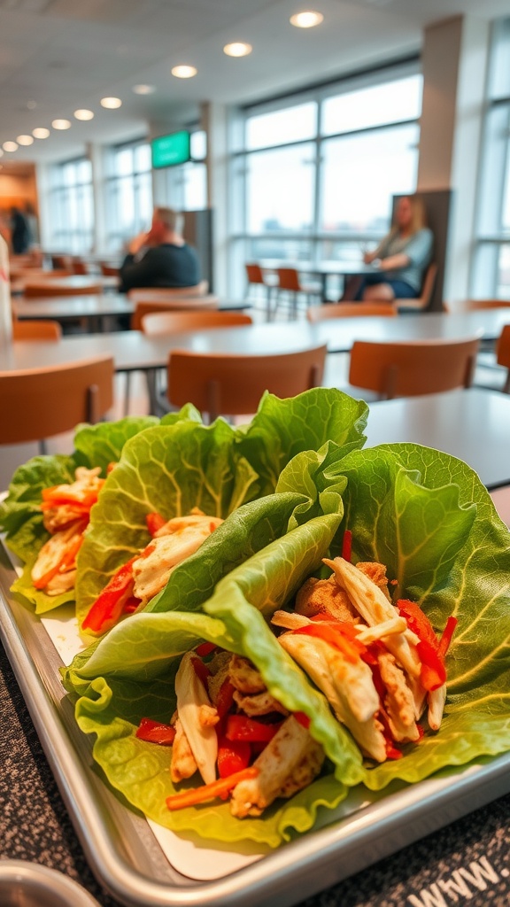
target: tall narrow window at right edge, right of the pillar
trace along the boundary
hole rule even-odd
[[[474,297],[510,297],[510,19],[495,24],[478,194]]]

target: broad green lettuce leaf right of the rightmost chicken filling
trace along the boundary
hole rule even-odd
[[[397,597],[437,632],[458,626],[446,658],[445,717],[405,755],[367,771],[378,790],[510,748],[510,532],[476,473],[446,453],[385,444],[350,454],[343,526],[354,560],[380,560]]]

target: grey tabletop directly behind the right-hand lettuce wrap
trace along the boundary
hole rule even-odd
[[[510,395],[470,387],[369,406],[367,446],[435,447],[468,463],[489,490],[510,484]]]

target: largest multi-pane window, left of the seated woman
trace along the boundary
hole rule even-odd
[[[392,196],[416,190],[421,93],[417,63],[407,63],[246,110],[233,155],[231,271],[374,245]]]

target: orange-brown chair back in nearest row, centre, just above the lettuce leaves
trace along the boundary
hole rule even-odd
[[[212,422],[218,415],[257,411],[264,391],[280,397],[300,394],[322,381],[327,346],[275,356],[172,352],[168,398],[175,406],[191,402]]]

